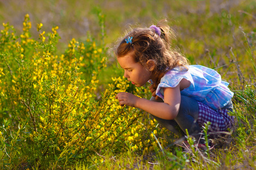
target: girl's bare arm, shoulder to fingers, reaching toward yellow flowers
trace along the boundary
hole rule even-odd
[[[183,89],[184,80],[185,79],[181,80],[181,82],[174,88],[164,88],[164,103],[139,98],[127,92],[117,94],[116,98],[119,100],[120,105],[137,107],[156,117],[173,120],[177,116],[177,113],[179,113],[181,99],[180,90]]]

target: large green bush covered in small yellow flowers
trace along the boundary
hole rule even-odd
[[[3,24],[0,37],[0,158],[4,165],[68,165],[77,161],[102,162],[98,153],[119,152],[124,145],[148,150],[163,133],[150,118],[134,108],[121,107],[115,95],[121,91],[146,97],[147,88],[131,87],[123,78],[102,93],[98,74],[106,67],[106,49],[95,41],[72,39],[68,49],[56,55],[58,27],[52,32],[37,26],[39,40],[31,38],[28,15],[23,32]],[[150,135],[150,132],[152,134]],[[15,135],[14,135],[15,134]],[[166,143],[164,139],[159,140]],[[30,150],[30,153],[24,151]],[[28,156],[30,155],[30,156]]]

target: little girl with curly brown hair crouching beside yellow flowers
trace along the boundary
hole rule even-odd
[[[188,65],[187,58],[172,49],[175,38],[166,20],[150,28],[135,28],[115,50],[124,76],[137,87],[151,83],[150,100],[127,92],[117,94],[120,105],[143,109],[168,130],[189,135],[204,145],[201,127],[210,122],[209,133],[233,125],[233,92],[220,74],[208,67]]]

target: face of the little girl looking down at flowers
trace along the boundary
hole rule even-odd
[[[141,87],[151,79],[151,72],[140,63],[135,62],[130,53],[122,57],[117,57],[119,65],[125,70],[125,78],[137,87]]]

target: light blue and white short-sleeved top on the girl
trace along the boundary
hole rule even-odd
[[[191,85],[180,91],[180,94],[200,101],[210,108],[220,109],[232,99],[234,93],[229,90],[229,83],[222,81],[217,71],[200,65],[190,65],[188,68],[187,70],[184,67],[175,67],[168,71],[160,80],[156,95],[164,99],[163,88],[176,87],[184,78],[189,80]]]

